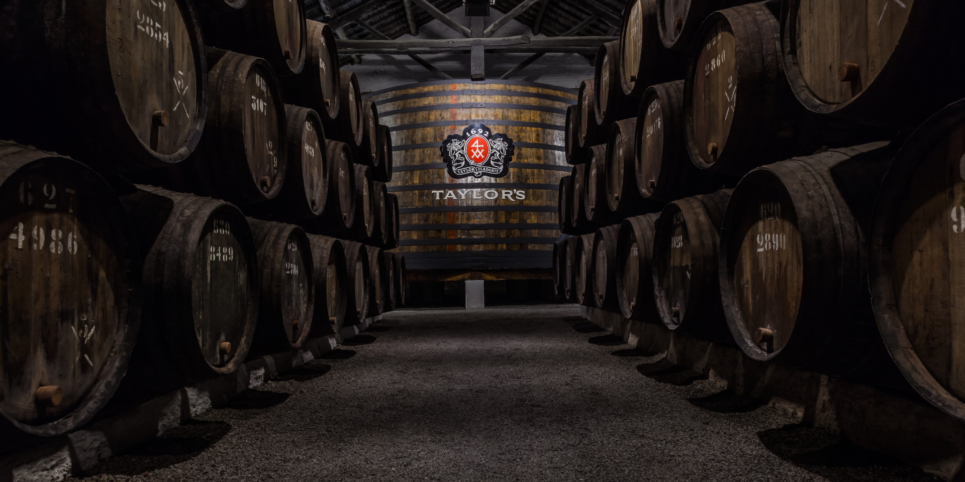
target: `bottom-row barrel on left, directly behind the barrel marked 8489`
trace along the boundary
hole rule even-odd
[[[258,248],[262,301],[251,356],[301,348],[315,315],[312,245],[302,228],[248,219]]]

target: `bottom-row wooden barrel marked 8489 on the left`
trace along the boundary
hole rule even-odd
[[[143,355],[152,365],[177,367],[187,382],[233,373],[251,347],[259,312],[258,255],[247,220],[225,201],[138,188],[122,198],[147,251],[136,351],[151,351]]]

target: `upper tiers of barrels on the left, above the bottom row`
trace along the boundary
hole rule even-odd
[[[398,208],[380,184],[392,178],[389,129],[302,0],[8,10],[0,62],[16,75],[0,86],[17,94],[0,139],[260,219],[398,245]],[[48,29],[48,12],[82,20]]]

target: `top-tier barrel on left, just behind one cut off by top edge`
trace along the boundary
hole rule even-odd
[[[286,100],[308,107],[318,113],[323,122],[339,116],[339,52],[335,35],[327,23],[306,20],[307,45],[305,67],[297,75],[282,79]]]

